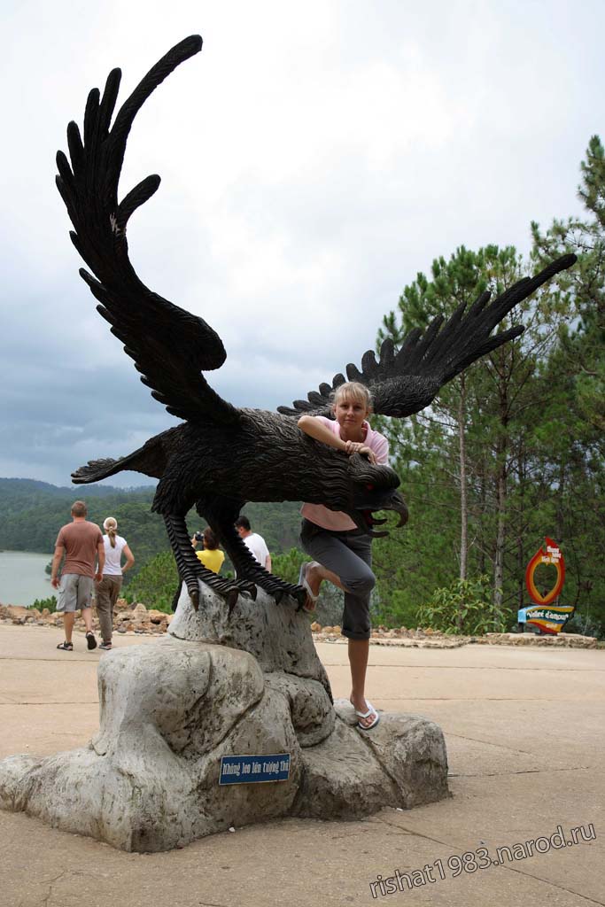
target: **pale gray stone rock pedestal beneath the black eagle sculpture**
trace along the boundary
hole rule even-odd
[[[170,636],[99,663],[100,729],[88,746],[0,762],[0,807],[126,851],[182,847],[279,816],[351,819],[448,795],[439,727],[381,713],[356,727],[332,703],[308,625],[261,590],[230,619],[200,586]],[[288,780],[219,785],[221,756],[290,754]]]

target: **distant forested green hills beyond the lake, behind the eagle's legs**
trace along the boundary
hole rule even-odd
[[[50,556],[57,532],[70,522],[72,503],[83,499],[89,520],[101,525],[106,516],[116,518],[136,559],[134,575],[151,557],[170,547],[161,516],[151,513],[154,493],[151,485],[60,488],[34,479],[0,479],[0,550],[40,551]],[[293,502],[250,503],[243,512],[254,530],[264,536],[269,551],[279,554],[298,544],[299,508]],[[203,526],[195,511],[190,512],[187,523],[191,532]]]

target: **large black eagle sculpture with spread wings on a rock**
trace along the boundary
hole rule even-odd
[[[407,510],[396,490],[399,479],[388,466],[373,465],[358,453],[343,455],[298,429],[300,414],[330,415],[330,395],[346,380],[344,375],[336,375],[331,385],[320,385],[292,408],[280,406],[278,413],[236,408],[201,374],[225,361],[220,337],[202,318],[145,287],[132,268],[128,220],[158,189],[160,177],[148,176],[118,200],[126,141],[136,113],[154,89],[200,50],[199,35],[173,47],[122,104],[113,125],[122,73],[112,70],[102,97],[96,88],[88,96],[83,135],[74,122],[67,127],[71,165],[63,151],[57,153],[56,182],[73,223],[73,245],[95,276],[83,268],[80,274],[99,301],[97,310],[141,372],[143,384],[183,420],[120,460],[88,463],[73,473],[73,482],[97,482],[122,470],[159,480],[152,509],[166,523],[181,579],[196,608],[198,580],[228,600],[229,609],[240,592],[256,597],[257,585],[277,601],[289,595],[302,604],[305,591],[260,567],[239,539],[233,524],[246,502],[323,503],[349,514],[370,535],[386,534],[374,528],[385,522],[376,520],[374,512],[398,512],[403,525]],[[378,414],[403,418],[420,412],[464,368],[519,336],[522,327],[490,334],[513,306],[574,261],[572,255],[553,261],[492,302],[490,294],[483,293],[466,314],[460,307],[445,324],[435,318],[424,336],[412,331],[399,350],[385,340],[379,360],[369,351],[362,357],[361,371],[346,366],[348,379],[369,387]],[[185,522],[194,505],[228,552],[237,580],[225,580],[200,564]]]

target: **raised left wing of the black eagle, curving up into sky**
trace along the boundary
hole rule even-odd
[[[128,258],[126,225],[132,212],[158,189],[160,177],[148,176],[118,202],[126,140],[136,113],[179,63],[200,50],[199,35],[176,44],[122,104],[111,129],[121,71],[109,74],[102,98],[93,88],[83,137],[76,123],[67,127],[71,167],[58,151],[56,183],[73,223],[73,245],[98,279],[83,268],[80,274],[99,300],[97,309],[111,324],[112,334],[134,359],[141,381],[151,387],[151,395],[181,419],[232,423],[239,419],[238,410],[200,375],[225,361],[220,336],[202,318],[145,287]]]

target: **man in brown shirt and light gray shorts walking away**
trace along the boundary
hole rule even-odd
[[[51,584],[59,591],[57,610],[63,611],[63,627],[65,641],[57,646],[63,652],[73,651],[72,631],[75,611],[82,610],[86,626],[86,642],[89,649],[96,649],[97,641],[93,633],[93,616],[91,600],[93,597],[93,582],[102,580],[102,570],[105,566],[105,548],[102,533],[96,523],[86,520],[86,504],[76,501],[72,505],[72,522],[68,522],[59,530],[57,541],[54,543],[53,568],[51,571]],[[59,580],[59,567],[65,556],[61,580]],[[94,571],[94,561],[98,561],[97,571]]]

